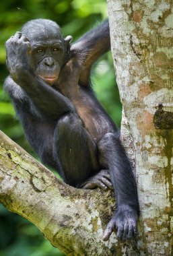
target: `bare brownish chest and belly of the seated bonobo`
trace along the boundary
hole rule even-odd
[[[68,90],[59,88],[59,91],[74,104],[85,129],[94,141],[97,142],[105,133],[116,129],[91,89],[76,86],[69,87]]]

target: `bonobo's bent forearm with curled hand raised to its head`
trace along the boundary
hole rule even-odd
[[[7,67],[12,79],[18,84],[32,102],[50,119],[57,119],[64,113],[74,112],[73,104],[62,94],[48,86],[34,75],[30,67],[30,42],[16,32],[6,42]]]

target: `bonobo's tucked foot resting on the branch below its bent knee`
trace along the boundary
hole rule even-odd
[[[96,189],[96,187],[100,187],[103,190],[113,189],[108,170],[101,170],[79,186],[80,189]]]

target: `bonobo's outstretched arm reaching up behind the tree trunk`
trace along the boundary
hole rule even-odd
[[[93,63],[108,50],[110,50],[108,20],[105,20],[97,28],[81,36],[81,38],[71,46],[71,51],[79,53],[79,59],[81,59],[81,63],[83,63],[79,84],[88,86]]]

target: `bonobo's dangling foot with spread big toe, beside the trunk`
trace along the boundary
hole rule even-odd
[[[137,235],[138,214],[129,205],[121,205],[112,216],[104,232],[104,241],[108,241],[112,232],[117,230],[117,238],[126,241]]]

